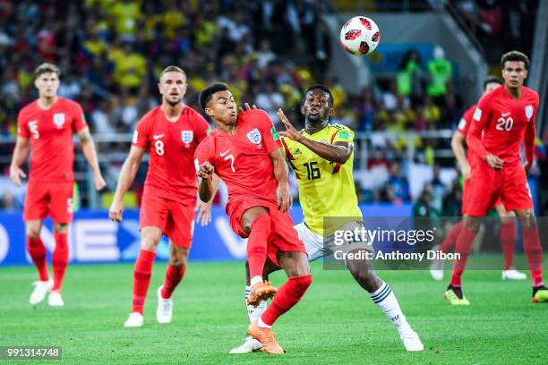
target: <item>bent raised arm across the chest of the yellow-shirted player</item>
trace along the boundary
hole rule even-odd
[[[350,143],[338,141],[335,142],[335,144],[330,145],[327,143],[318,142],[316,140],[311,140],[295,130],[295,127],[291,124],[291,122],[289,122],[283,110],[278,109],[278,117],[281,123],[283,123],[286,127],[286,131],[279,132],[279,135],[303,144],[321,158],[324,158],[330,162],[344,164],[352,155],[352,146]]]

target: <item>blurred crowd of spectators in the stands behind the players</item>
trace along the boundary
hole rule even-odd
[[[449,149],[449,140],[386,138],[379,132],[453,128],[465,107],[453,88],[453,65],[440,47],[435,48],[431,60],[421,60],[418,53],[410,51],[389,80],[376,81],[356,95],[347,94],[329,77],[332,38],[321,19],[322,14],[335,12],[337,3],[0,0],[0,134],[16,136],[19,110],[37,98],[33,71],[42,62],[61,68],[59,95],[78,101],[91,131],[101,136],[133,132],[141,115],[158,105],[158,74],[169,64],[181,66],[187,73],[185,102],[196,110],[201,111],[197,103],[200,90],[210,82],[225,81],[238,103],[250,102],[266,110],[274,123],[279,122],[275,111],[282,107],[297,128],[303,126],[299,114],[303,90],[324,83],[334,95],[332,122],[346,124],[356,132],[372,132],[368,140],[372,153],[355,167],[367,171],[380,168],[384,180],[370,188],[362,183],[370,175],[362,175],[360,180],[358,174],[360,199],[391,204],[427,199],[433,204],[429,207],[448,211],[447,207],[457,204],[453,200],[460,199],[458,174],[451,159],[445,165],[453,174],[446,174],[451,179],[442,182],[434,150]],[[366,3],[374,7],[382,2]],[[437,2],[428,3],[434,6]],[[500,38],[502,31],[496,21],[490,23],[491,28],[484,25],[485,19],[492,20],[484,12],[491,1],[454,3],[475,32]],[[409,143],[418,151],[415,162],[430,166],[432,175],[415,194],[407,178]],[[12,149],[13,143],[0,144],[4,180]],[[128,149],[129,143],[103,143],[98,152],[110,156],[118,152],[124,157]],[[107,177],[112,176],[111,191],[122,162],[101,163]],[[81,164],[76,169],[84,167]],[[130,199],[134,205],[139,202],[143,170],[135,183],[135,199]],[[20,208],[20,201],[13,199],[17,194],[2,188],[7,185],[0,182],[4,209]],[[81,196],[85,205],[85,195]],[[443,197],[450,202],[444,205]],[[108,199],[103,200],[107,207]]]

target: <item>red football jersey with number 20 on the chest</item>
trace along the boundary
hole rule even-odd
[[[505,166],[515,166],[521,161],[521,143],[526,142],[526,157],[533,161],[535,152],[535,116],[538,109],[538,94],[524,87],[521,98],[512,98],[504,85],[481,98],[468,132],[467,144],[485,158],[488,154],[500,157]],[[476,146],[470,140],[473,134],[482,143]],[[524,139],[525,137],[525,139]],[[472,142],[472,143],[470,143]]]

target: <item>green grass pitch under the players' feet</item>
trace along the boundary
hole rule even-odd
[[[313,263],[313,285],[274,327],[287,351],[274,357],[228,354],[248,324],[242,263],[191,262],[174,294],[173,323],[159,325],[156,289],[165,268],[155,264],[144,327],[126,329],[133,265],[69,267],[61,309],[30,307],[34,267],[1,267],[0,345],[62,346],[62,362],[79,364],[540,364],[548,356],[548,306],[530,302],[528,280],[502,282],[499,270],[465,274],[468,308],[445,302],[446,283],[433,282],[427,271],[380,272],[424,343],[424,352],[410,353],[347,272]],[[271,278],[279,285],[285,275]]]

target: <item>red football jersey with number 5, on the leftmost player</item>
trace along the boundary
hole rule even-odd
[[[73,133],[88,126],[81,106],[57,98],[53,106],[44,110],[36,100],[21,109],[17,124],[17,135],[30,139],[29,180],[73,181]]]

